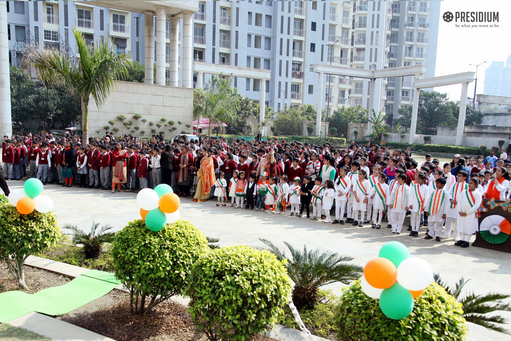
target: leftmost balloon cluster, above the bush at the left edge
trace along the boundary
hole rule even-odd
[[[43,185],[41,180],[30,178],[25,181],[22,190],[9,193],[9,203],[20,214],[31,214],[36,210],[40,213],[48,213],[53,210],[53,200],[48,195],[41,195]]]

